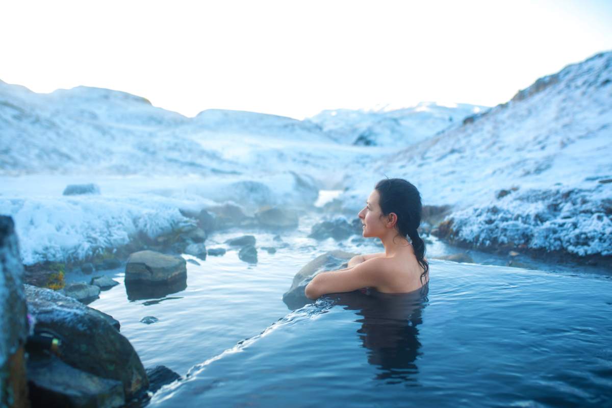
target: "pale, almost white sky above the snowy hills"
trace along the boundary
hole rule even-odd
[[[612,49],[612,1],[6,1],[0,80],[302,119],[497,105]]]

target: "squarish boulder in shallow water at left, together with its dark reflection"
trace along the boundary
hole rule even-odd
[[[187,287],[187,262],[180,256],[155,251],[130,255],[125,265],[125,290],[130,300],[150,299]]]

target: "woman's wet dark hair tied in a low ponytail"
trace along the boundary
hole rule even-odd
[[[395,228],[398,234],[403,238],[410,237],[414,254],[423,268],[420,275],[423,284],[423,278],[429,273],[429,263],[425,261],[425,242],[417,232],[422,213],[419,190],[404,179],[380,180],[375,188],[380,196],[379,206],[383,215],[394,212],[397,215]]]

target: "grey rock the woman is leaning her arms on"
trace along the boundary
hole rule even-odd
[[[345,251],[329,251],[308,262],[296,273],[291,287],[283,295],[285,305],[287,305],[289,310],[296,310],[308,303],[312,303],[312,300],[308,299],[304,294],[304,288],[308,282],[320,272],[345,268],[346,262],[356,255]]]

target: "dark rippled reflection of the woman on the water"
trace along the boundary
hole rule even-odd
[[[429,285],[408,294],[360,291],[329,295],[345,310],[362,316],[357,330],[368,351],[368,363],[379,370],[375,379],[388,384],[416,385],[417,356],[420,354],[419,328],[427,305]]]

